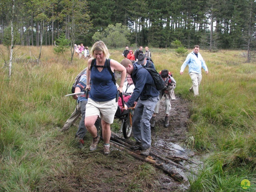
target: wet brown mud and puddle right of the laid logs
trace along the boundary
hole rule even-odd
[[[184,192],[189,189],[188,176],[191,176],[198,170],[202,164],[200,156],[186,147],[186,134],[189,123],[189,102],[176,97],[171,101],[172,109],[169,114],[170,126],[164,127],[164,97],[160,103],[159,114],[156,116],[156,126],[151,129],[152,152],[161,157],[174,160],[178,165],[183,166],[186,170],[181,169],[173,164],[167,164],[171,170],[178,172],[184,179],[182,182],[174,180],[163,170],[158,170],[158,182],[161,185],[160,191],[163,192]],[[122,136],[122,133],[120,133]],[[154,156],[152,156],[154,157]],[[180,157],[182,160],[176,161]]]

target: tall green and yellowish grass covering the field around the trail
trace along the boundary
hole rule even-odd
[[[0,70],[0,191],[100,191],[102,180],[95,179],[98,165],[114,171],[103,181],[110,189],[112,180],[125,177],[114,185],[130,191],[158,186],[152,182],[153,170],[146,164],[134,165],[125,154],[105,157],[100,149],[93,154],[88,147],[78,150],[76,126],[65,134],[58,132],[75,106],[64,95],[87,64],[77,57],[71,64],[70,53],[56,56],[52,46],[43,47],[42,59],[36,63],[33,55],[38,55],[39,48],[32,49],[17,50],[10,80],[8,69]],[[110,50],[110,58],[121,61],[122,51]],[[239,50],[200,50],[209,74],[202,71],[200,96],[194,98],[188,91],[192,83],[188,68],[179,74],[185,57],[177,57],[171,49],[150,51],[156,69],[172,71],[176,94],[191,103],[186,144],[208,154],[198,176],[189,180],[190,191],[241,191],[244,178],[256,185],[256,64],[244,63]],[[89,146],[90,136],[86,137]],[[122,156],[131,167],[118,173]]]

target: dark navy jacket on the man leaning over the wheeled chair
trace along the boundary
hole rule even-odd
[[[132,71],[131,77],[135,88],[131,98],[126,103],[128,107],[132,106],[138,98],[140,100],[147,100],[159,96],[159,91],[156,90],[154,80],[150,73],[140,64],[134,63],[133,66],[134,70]]]

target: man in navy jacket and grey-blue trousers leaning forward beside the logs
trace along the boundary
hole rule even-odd
[[[132,77],[135,86],[132,96],[124,105],[126,110],[136,103],[132,117],[132,130],[136,143],[131,146],[131,149],[141,150],[140,154],[148,156],[151,151],[149,121],[159,100],[159,91],[156,89],[151,74],[142,65],[132,64],[128,59],[123,59],[120,63]],[[137,99],[138,102],[136,102]]]

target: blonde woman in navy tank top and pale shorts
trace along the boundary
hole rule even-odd
[[[101,118],[104,154],[110,154],[110,124],[114,121],[114,116],[118,107],[116,101],[117,91],[123,91],[122,88],[126,77],[126,69],[119,62],[112,59],[109,60],[109,65],[113,72],[112,75],[114,75],[115,71],[121,72],[120,85],[117,88],[110,71],[106,67],[110,54],[104,42],[98,41],[94,43],[91,55],[93,58],[96,58],[96,61],[91,64],[93,58],[88,60],[86,89],[90,90],[90,98],[88,98],[88,103],[86,105],[87,110],[84,123],[93,138],[92,144],[90,145],[90,151],[94,151],[97,149],[97,145],[100,141],[100,136],[97,134],[97,129],[94,123],[98,117]],[[91,65],[92,69],[90,69]],[[92,82],[91,87],[89,84],[90,80]]]

